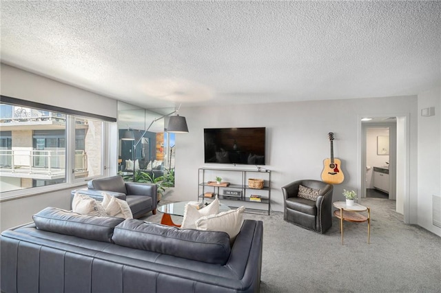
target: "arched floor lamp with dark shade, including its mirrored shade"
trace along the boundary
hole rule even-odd
[[[143,140],[143,137],[145,135],[145,133],[147,133],[147,131],[149,131],[150,127],[152,127],[153,123],[161,120],[167,116],[173,115],[174,113],[176,113],[175,116],[171,116],[170,120],[168,122],[167,125],[167,129],[165,129],[165,131],[170,132],[170,133],[188,133],[188,127],[187,127],[187,120],[185,120],[185,117],[183,116],[179,116],[178,111],[181,108],[181,105],[179,105],[178,109],[173,111],[172,113],[168,113],[165,114],[161,117],[155,118],[149,125],[149,127],[147,127],[147,129],[145,129],[145,131],[143,132],[143,134],[141,135],[141,137],[139,138],[139,140],[137,140],[136,142],[134,142],[133,144],[133,153],[132,153],[132,159],[133,159],[133,182],[135,182],[135,162],[136,162],[136,146],[138,146],[138,144],[141,142],[141,140]],[[121,137],[121,140],[135,140],[135,135],[134,135],[134,130],[135,129],[127,129],[126,131],[124,131],[123,136]]]

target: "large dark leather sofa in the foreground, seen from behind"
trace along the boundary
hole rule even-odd
[[[263,224],[225,232],[45,208],[3,231],[1,292],[259,292]]]

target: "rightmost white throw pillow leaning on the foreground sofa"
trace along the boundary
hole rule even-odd
[[[240,206],[237,210],[227,210],[217,215],[201,217],[196,221],[196,229],[227,232],[229,241],[233,243],[242,227],[244,212],[245,206]]]

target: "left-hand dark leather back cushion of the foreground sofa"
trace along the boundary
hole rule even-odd
[[[41,210],[32,218],[40,230],[110,243],[114,227],[124,221],[123,218],[81,215],[52,207]]]

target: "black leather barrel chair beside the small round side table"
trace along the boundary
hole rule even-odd
[[[316,201],[298,197],[298,186],[320,190]],[[283,219],[302,228],[325,233],[332,226],[334,186],[318,180],[298,180],[282,187]]]

